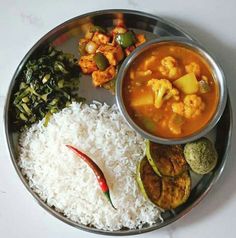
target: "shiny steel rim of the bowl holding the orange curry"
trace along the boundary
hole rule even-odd
[[[212,118],[204,125],[201,129],[196,131],[195,133],[180,137],[180,138],[165,138],[153,135],[144,129],[142,129],[140,126],[138,126],[134,120],[130,117],[126,110],[126,106],[123,100],[123,82],[125,80],[126,72],[130,68],[131,64],[137,59],[137,57],[144,53],[145,51],[155,48],[156,46],[160,44],[174,44],[183,46],[185,48],[188,48],[200,56],[207,62],[207,64],[210,66],[212,73],[214,75],[215,83],[218,86],[218,93],[219,93],[219,100],[218,104],[215,110],[214,115]],[[195,41],[191,41],[189,39],[183,38],[183,37],[160,37],[157,39],[153,39],[151,41],[148,41],[141,46],[137,47],[123,62],[119,74],[117,76],[116,81],[116,103],[119,107],[119,110],[121,114],[124,116],[127,123],[135,130],[137,131],[141,136],[144,138],[151,140],[156,143],[161,144],[184,144],[193,140],[196,140],[204,135],[206,135],[208,132],[212,130],[212,128],[217,124],[219,119],[221,118],[227,101],[227,87],[226,87],[226,81],[225,76],[223,73],[222,68],[220,67],[217,60],[205,49],[203,48],[199,43]]]

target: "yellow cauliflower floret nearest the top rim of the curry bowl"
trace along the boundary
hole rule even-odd
[[[181,75],[181,69],[177,67],[177,61],[172,56],[167,56],[161,60],[159,71],[163,76],[176,79]]]

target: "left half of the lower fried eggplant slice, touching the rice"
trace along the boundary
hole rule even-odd
[[[145,198],[156,204],[161,197],[161,177],[156,175],[146,157],[138,164],[137,182]]]

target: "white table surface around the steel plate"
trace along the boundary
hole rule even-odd
[[[50,29],[74,16],[100,9],[146,11],[179,24],[200,40],[222,64],[235,117],[235,0],[0,0],[0,123],[11,77],[31,46]],[[234,128],[235,129],[235,128]],[[235,130],[234,130],[235,131]],[[232,149],[220,181],[188,215],[142,237],[236,237],[236,154]],[[224,140],[224,138],[222,138]],[[75,229],[42,209],[26,191],[10,162],[0,130],[0,237],[97,237]]]

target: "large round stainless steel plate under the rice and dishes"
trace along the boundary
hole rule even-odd
[[[79,17],[75,17],[63,23],[62,25],[54,28],[43,38],[41,38],[21,61],[13,76],[8,90],[4,109],[4,125],[8,149],[16,172],[25,187],[43,208],[45,208],[49,213],[59,218],[60,220],[85,231],[105,235],[134,235],[156,230],[172,223],[173,221],[176,221],[177,219],[188,213],[195,205],[197,205],[218,180],[225,166],[227,151],[229,149],[228,147],[231,139],[232,112],[229,99],[221,120],[214,128],[214,130],[212,130],[211,133],[208,135],[212,138],[212,140],[215,141],[215,145],[219,154],[219,162],[217,164],[216,169],[210,174],[204,176],[197,176],[195,174],[192,174],[193,185],[191,195],[188,201],[177,209],[163,213],[162,216],[164,221],[162,223],[158,221],[152,226],[144,226],[141,229],[129,230],[124,228],[122,230],[114,232],[100,230],[90,226],[84,226],[82,224],[78,224],[76,222],[71,221],[70,219],[66,218],[62,213],[59,213],[54,208],[49,207],[38,197],[35,192],[31,190],[27,179],[22,175],[21,170],[17,165],[17,134],[12,131],[11,118],[9,113],[9,109],[12,107],[10,103],[10,98],[12,95],[13,88],[17,83],[17,78],[19,77],[23,66],[32,55],[37,54],[45,44],[53,43],[57,46],[57,48],[62,49],[65,52],[71,52],[75,54],[75,56],[78,56],[77,41],[80,37],[83,36],[83,29],[86,27],[86,24],[92,22],[96,25],[112,27],[118,19],[123,19],[128,28],[132,28],[136,32],[144,32],[148,39],[152,39],[159,36],[182,36],[190,40],[194,40],[182,29],[173,25],[172,23],[169,23],[159,17],[143,12],[130,10],[106,10],[92,12]],[[115,97],[110,92],[102,88],[95,89],[92,86],[91,80],[88,77],[89,76],[83,76],[81,78],[81,88],[79,92],[81,96],[84,96],[87,99],[87,102],[90,102],[92,100],[99,100],[102,102],[106,102],[110,105],[115,103]]]

